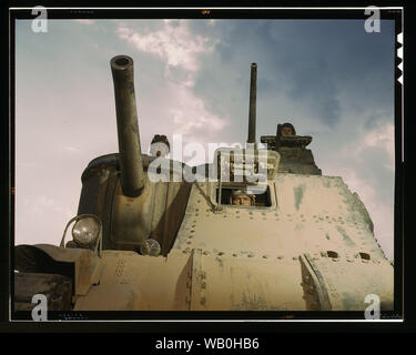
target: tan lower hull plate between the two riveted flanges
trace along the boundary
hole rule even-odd
[[[192,311],[305,311],[293,258],[193,251]]]

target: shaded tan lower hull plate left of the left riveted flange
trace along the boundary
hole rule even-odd
[[[190,307],[190,288],[186,287],[190,255],[171,253],[165,258],[104,251],[101,265],[100,283],[87,296],[78,298],[75,311],[102,306],[133,311],[187,311]]]

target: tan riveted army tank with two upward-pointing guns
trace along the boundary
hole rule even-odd
[[[312,136],[282,122],[257,146],[255,63],[245,148],[207,171],[141,152],[133,60],[110,67],[119,153],[88,164],[60,246],[14,247],[14,311],[34,294],[54,311],[364,311],[368,295],[393,311],[369,214],[322,174]]]

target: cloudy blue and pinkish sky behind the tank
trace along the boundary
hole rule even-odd
[[[291,122],[324,175],[366,205],[393,260],[394,22],[48,20],[16,26],[16,244],[58,245],[81,174],[118,152],[110,60],[134,60],[142,152],[154,134],[244,143],[257,63],[257,141]],[[206,156],[207,159],[207,156]],[[190,158],[184,158],[184,161]]]

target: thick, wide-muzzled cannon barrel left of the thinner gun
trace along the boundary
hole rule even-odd
[[[111,59],[110,65],[114,82],[121,186],[124,195],[135,197],[143,189],[144,174],[134,94],[133,59],[116,55]]]

